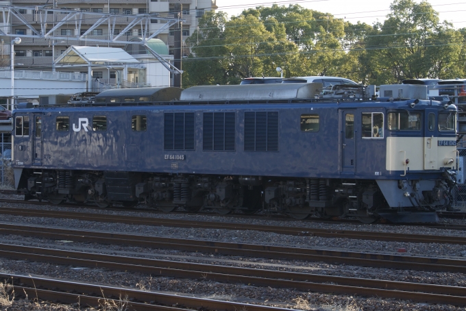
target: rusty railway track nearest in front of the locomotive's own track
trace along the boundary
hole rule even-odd
[[[50,217],[58,219],[79,219],[82,221],[101,221],[106,223],[126,223],[130,225],[154,225],[169,227],[256,230],[289,234],[295,236],[318,236],[323,238],[352,238],[358,240],[384,240],[397,242],[446,243],[466,245],[466,237],[433,236],[422,234],[396,234],[387,232],[364,232],[337,229],[316,229],[309,227],[281,227],[276,225],[256,225],[243,223],[214,223],[208,221],[185,221],[177,219],[141,218],[134,216],[119,216],[110,214],[84,214],[82,212],[58,212],[54,210],[32,210],[19,208],[0,208],[0,214],[18,216]]]

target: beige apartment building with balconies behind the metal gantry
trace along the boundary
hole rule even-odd
[[[52,1],[55,1],[54,3]],[[201,17],[204,12],[207,10],[217,9],[216,0],[93,0],[93,1],[83,1],[83,0],[52,0],[48,3],[51,8],[56,9],[66,9],[66,10],[80,10],[85,12],[100,12],[110,14],[145,14],[147,12],[158,12],[161,17],[168,16],[173,17],[175,3],[182,4],[183,18],[186,19],[186,22],[183,23],[183,39],[186,39],[188,36],[193,34],[197,28],[197,19]],[[10,4],[12,5],[24,5],[28,7],[35,7],[36,5],[42,6],[45,5],[45,0],[11,0]],[[48,2],[48,1],[47,1]],[[8,3],[8,1],[2,1],[2,3]],[[31,23],[33,26],[37,25],[36,29],[40,29],[40,19],[34,10],[21,10],[23,17]],[[62,20],[65,14],[60,14],[58,12],[53,13],[49,11],[47,16],[47,29],[51,29],[56,23]],[[22,38],[21,45],[14,47],[15,51],[15,69],[27,69],[27,70],[42,70],[42,71],[51,71],[52,68],[52,59],[58,58],[59,55],[64,53],[70,45],[86,45],[86,46],[97,46],[105,45],[106,47],[121,47],[125,48],[125,44],[121,43],[103,43],[103,42],[93,42],[89,39],[99,38],[99,39],[108,39],[109,38],[109,27],[108,23],[104,23],[99,27],[93,29],[93,31],[86,36],[84,40],[72,40],[73,36],[84,34],[91,25],[96,21],[96,16],[91,14],[84,14],[81,22],[80,34],[77,34],[77,29],[74,22],[65,23],[56,31],[56,35],[70,37],[69,39],[38,39],[38,38]],[[113,34],[120,34],[123,29],[128,24],[129,19],[124,17],[119,17],[116,19],[116,25],[113,29]],[[152,19],[150,23],[150,33],[163,27],[164,21],[158,19]],[[169,54],[173,54],[173,36],[174,27],[171,29],[165,29],[163,32],[158,34],[156,37],[159,40],[162,40],[167,47]],[[30,29],[27,29],[18,18],[14,17],[11,21],[11,32],[12,34],[32,34]],[[57,33],[58,32],[58,33]],[[121,40],[125,41],[134,41],[136,38],[142,36],[143,29],[140,27],[134,27],[129,32],[126,32],[121,37]],[[7,51],[10,45],[9,40],[2,40],[1,51]],[[5,46],[4,46],[5,45]],[[6,46],[8,45],[8,46]],[[59,68],[56,69],[60,71]],[[93,78],[101,79],[102,81],[111,81],[111,79],[116,78],[115,71],[106,71],[106,70],[95,70],[93,71]],[[142,77],[139,78],[142,80]],[[134,81],[133,81],[134,82]],[[137,82],[137,76],[136,76]]]

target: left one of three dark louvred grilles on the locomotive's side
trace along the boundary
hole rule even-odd
[[[194,113],[164,114],[164,149],[194,150]]]

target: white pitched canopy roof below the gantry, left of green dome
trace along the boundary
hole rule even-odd
[[[80,47],[71,45],[57,59],[63,65],[138,64],[139,61],[119,47]]]

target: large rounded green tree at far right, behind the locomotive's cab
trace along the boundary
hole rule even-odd
[[[398,83],[403,79],[445,78],[457,72],[461,36],[426,2],[395,0],[384,23],[377,23],[365,38],[360,55],[363,75],[372,83]]]

